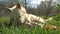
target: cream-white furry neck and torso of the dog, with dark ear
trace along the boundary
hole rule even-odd
[[[34,23],[34,21],[39,21],[41,23],[45,23],[44,22],[44,19],[41,18],[41,17],[37,17],[33,14],[27,14],[26,13],[26,9],[24,7],[22,7],[20,4],[17,5],[17,8],[18,8],[18,12],[20,13],[20,20],[22,23]]]

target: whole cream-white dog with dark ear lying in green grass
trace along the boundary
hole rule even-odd
[[[8,8],[8,7],[6,7],[6,8]],[[12,8],[8,8],[8,9],[10,9],[12,11],[15,8],[18,8],[18,12],[20,14],[20,20],[21,20],[22,23],[25,23],[25,24],[29,24],[29,25],[31,25],[32,23],[38,24],[38,23],[35,23],[35,21],[39,21],[41,24],[38,24],[38,25],[41,25],[41,27],[43,27],[43,25],[47,21],[52,20],[52,18],[44,20],[41,17],[37,17],[33,14],[26,13],[26,9],[24,7],[22,7],[19,3],[15,6],[13,6]]]

